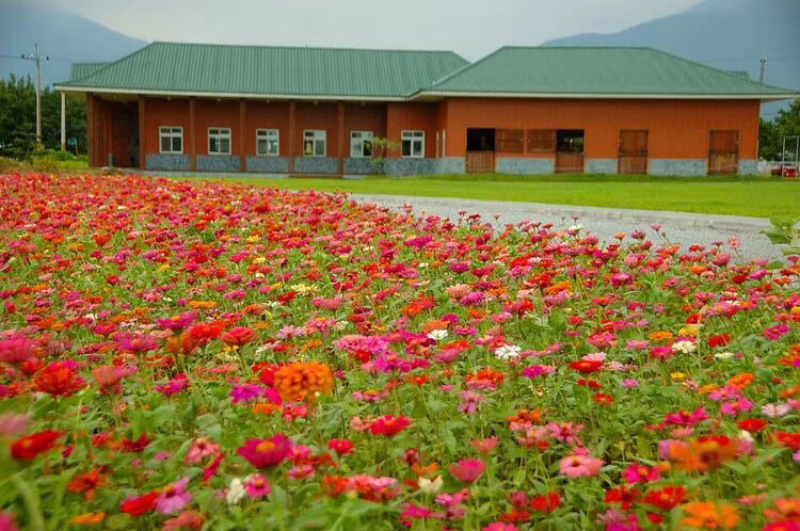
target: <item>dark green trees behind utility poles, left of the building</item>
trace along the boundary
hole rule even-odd
[[[67,150],[86,153],[86,101],[67,98]],[[61,148],[61,94],[42,90],[42,147]],[[0,79],[0,156],[29,159],[36,151],[36,86],[30,76]]]

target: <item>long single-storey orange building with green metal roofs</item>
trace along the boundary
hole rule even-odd
[[[649,48],[153,43],[56,88],[92,166],[282,175],[752,174],[761,102],[800,96]]]

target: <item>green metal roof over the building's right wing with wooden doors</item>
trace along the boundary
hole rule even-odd
[[[751,97],[798,91],[763,85],[652,48],[500,48],[424,89],[431,95]]]

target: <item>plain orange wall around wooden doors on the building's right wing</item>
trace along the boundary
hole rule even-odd
[[[583,129],[587,158],[616,158],[620,129],[647,129],[650,158],[705,159],[710,129],[737,129],[739,157],[755,159],[758,115],[759,103],[746,100],[453,99],[447,155],[463,157],[467,128],[487,127]]]

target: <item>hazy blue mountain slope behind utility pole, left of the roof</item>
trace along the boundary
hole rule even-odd
[[[0,77],[33,78],[33,61],[18,57],[33,53],[37,42],[50,57],[42,62],[45,85],[66,80],[73,62],[113,61],[147,44],[61,9],[0,3]]]

